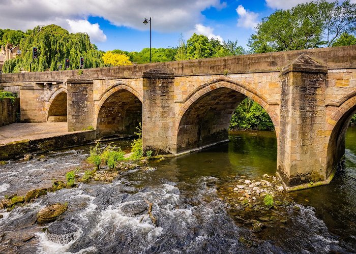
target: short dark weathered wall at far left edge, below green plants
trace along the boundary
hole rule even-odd
[[[14,102],[10,98],[0,101],[0,126],[16,122],[16,113],[20,113],[20,99]]]

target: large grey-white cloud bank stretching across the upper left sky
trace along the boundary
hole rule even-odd
[[[54,23],[102,41],[104,33],[98,24],[88,22],[88,17],[102,17],[113,25],[140,30],[150,29],[142,21],[152,17],[153,30],[185,33],[201,23],[204,20],[201,12],[211,7],[222,9],[226,3],[221,0],[0,0],[0,28],[26,30]]]

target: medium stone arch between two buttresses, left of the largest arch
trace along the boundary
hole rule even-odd
[[[96,110],[97,137],[129,136],[142,122],[142,97],[125,84],[107,89]]]

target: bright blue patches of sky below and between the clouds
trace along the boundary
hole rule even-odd
[[[226,7],[223,9],[210,7],[202,11],[201,14],[204,16],[204,19],[201,24],[213,28],[214,35],[219,35],[223,40],[238,40],[239,44],[244,47],[246,47],[247,40],[254,32],[254,29],[252,27],[241,27],[237,25],[239,15],[236,12],[236,8],[242,5],[248,11],[258,13],[258,20],[275,11],[275,9],[266,6],[264,0],[230,0],[225,2]],[[142,16],[142,21],[144,18],[145,17]],[[149,16],[147,16],[147,18],[149,18]],[[88,21],[91,23],[99,23],[100,28],[107,37],[105,42],[96,43],[101,50],[122,49],[127,51],[140,51],[144,47],[150,47],[149,24],[144,25],[142,23],[142,29],[145,30],[138,30],[125,26],[118,27],[99,17],[90,17]],[[178,44],[181,33],[187,41],[194,31],[194,27],[192,27],[191,30],[177,29],[177,31],[171,33],[169,31],[157,31],[157,29],[155,29],[155,17],[152,16],[152,47],[175,47]]]

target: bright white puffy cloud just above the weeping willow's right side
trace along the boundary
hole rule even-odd
[[[99,24],[92,24],[87,20],[70,20],[67,19],[67,23],[69,25],[68,31],[70,33],[87,33],[91,40],[94,42],[105,42],[106,35],[104,35],[103,30],[99,28]]]

